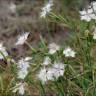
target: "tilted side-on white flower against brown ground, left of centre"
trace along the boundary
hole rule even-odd
[[[20,35],[15,45],[23,45],[27,40],[28,36],[29,36],[29,32],[25,32],[22,35]]]

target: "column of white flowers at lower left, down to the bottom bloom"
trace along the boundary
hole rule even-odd
[[[30,67],[30,63],[29,60],[31,60],[31,57],[26,57],[25,59],[22,58],[21,60],[18,61],[17,63],[17,75],[18,75],[18,79],[24,80],[24,78],[27,76],[28,74],[28,68]],[[18,92],[20,95],[24,95],[25,94],[25,88],[24,88],[24,83],[19,82],[15,85],[15,87],[13,88],[13,93]]]

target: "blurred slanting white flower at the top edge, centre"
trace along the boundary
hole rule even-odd
[[[49,2],[42,8],[42,12],[40,13],[40,17],[45,18],[46,15],[51,11],[52,6],[53,6],[53,0],[49,0]]]

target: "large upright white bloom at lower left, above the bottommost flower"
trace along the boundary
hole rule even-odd
[[[18,78],[19,79],[24,79],[27,74],[28,74],[28,68],[29,68],[29,62],[26,61],[26,59],[21,59],[18,61],[18,64],[17,64],[17,68],[18,68],[18,72],[17,72],[17,75],[18,75]]]

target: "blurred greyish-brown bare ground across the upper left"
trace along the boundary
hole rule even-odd
[[[46,0],[0,0],[0,42],[4,43],[13,58],[25,56],[26,46],[15,46],[17,36],[23,32],[30,32],[28,42],[32,46],[40,42],[40,35],[47,43],[60,43],[62,38],[66,38],[67,28],[40,18],[45,2]],[[16,5],[15,12],[10,10],[12,4]],[[58,12],[62,11],[60,4],[59,0],[54,4]]]

